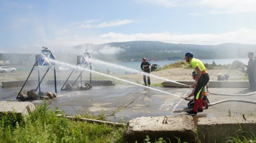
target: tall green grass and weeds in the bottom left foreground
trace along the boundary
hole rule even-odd
[[[1,142],[126,142],[125,127],[70,121],[63,112],[56,113],[44,102],[22,122],[6,114],[0,120]]]

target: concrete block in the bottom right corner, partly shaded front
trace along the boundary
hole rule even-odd
[[[198,119],[197,131],[201,142],[222,142],[237,135],[250,137],[248,132],[256,134],[256,117],[202,117]]]

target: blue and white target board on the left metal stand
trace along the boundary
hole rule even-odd
[[[50,50],[41,50],[38,66],[55,65],[55,58]]]

